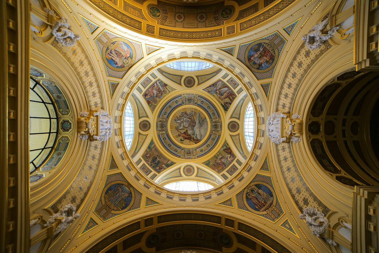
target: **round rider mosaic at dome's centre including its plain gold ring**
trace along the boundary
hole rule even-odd
[[[182,107],[172,113],[169,132],[179,145],[197,145],[208,136],[209,120],[196,107]]]

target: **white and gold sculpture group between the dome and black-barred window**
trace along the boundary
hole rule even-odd
[[[87,140],[106,141],[112,134],[112,118],[105,110],[80,112],[77,119],[78,133],[80,138]]]

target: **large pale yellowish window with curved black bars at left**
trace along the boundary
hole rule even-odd
[[[52,151],[58,132],[58,118],[49,94],[30,79],[29,97],[30,173],[36,170]]]

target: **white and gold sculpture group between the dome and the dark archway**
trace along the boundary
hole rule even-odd
[[[301,116],[294,113],[291,117],[289,113],[273,112],[268,116],[266,132],[273,143],[280,144],[283,141],[301,140],[302,120]]]

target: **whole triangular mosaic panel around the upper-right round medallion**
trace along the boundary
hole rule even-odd
[[[241,45],[237,58],[254,73],[258,80],[270,78],[273,76],[285,43],[285,39],[276,32]]]

